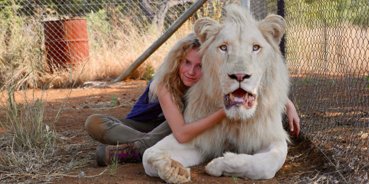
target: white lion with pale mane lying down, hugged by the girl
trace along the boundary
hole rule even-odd
[[[203,74],[186,94],[184,119],[192,122],[223,106],[227,118],[185,144],[171,134],[147,149],[143,164],[149,176],[188,182],[186,167],[215,158],[206,166],[212,176],[269,179],[286,159],[282,113],[289,76],[278,47],[286,21],[278,15],[256,21],[237,5],[227,6],[226,13],[223,24],[201,18],[194,25]]]

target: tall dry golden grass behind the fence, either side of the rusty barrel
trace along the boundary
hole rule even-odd
[[[69,71],[54,74],[48,72],[43,27],[37,17],[34,17],[34,20],[29,17],[16,17],[10,22],[1,19],[0,26],[8,27],[9,30],[0,34],[0,67],[11,68],[11,72],[1,71],[3,75],[0,76],[0,81],[8,82],[4,76],[17,77],[19,80],[16,81],[16,89],[22,86],[41,88],[49,81],[50,88],[66,88],[69,87],[71,78],[77,86],[85,81],[116,78],[161,35],[149,25],[143,25],[146,28],[138,28],[128,17],[117,17],[122,18],[111,21],[115,23],[111,24],[106,21],[107,14],[104,11],[86,16],[90,58],[86,63],[77,64],[73,70],[74,74],[79,74],[83,68],[84,71],[78,79],[77,75],[71,76]],[[175,42],[192,31],[192,25],[192,20],[187,21],[131,75],[131,78],[141,78],[146,64],[155,70]],[[33,72],[30,72],[31,70]]]

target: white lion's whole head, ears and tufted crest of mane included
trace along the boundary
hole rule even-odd
[[[265,89],[266,83],[280,81],[271,79],[277,75],[268,72],[278,72],[279,64],[284,66],[278,45],[286,21],[279,15],[256,21],[237,5],[227,6],[225,10],[227,16],[222,24],[201,18],[196,21],[194,32],[202,44],[203,73],[218,75],[227,117],[246,120],[255,113],[263,90],[275,89]],[[281,72],[286,77],[286,70]],[[281,85],[288,86],[285,81]],[[282,95],[285,98],[286,92]]]

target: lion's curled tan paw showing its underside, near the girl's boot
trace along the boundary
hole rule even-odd
[[[190,169],[184,168],[182,164],[175,160],[168,160],[165,168],[159,170],[159,176],[166,183],[185,183],[191,181]]]

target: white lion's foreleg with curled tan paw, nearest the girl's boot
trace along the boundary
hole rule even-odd
[[[167,183],[191,181],[188,166],[204,161],[199,151],[188,144],[180,144],[173,134],[146,149],[142,163],[149,176],[162,178]]]

